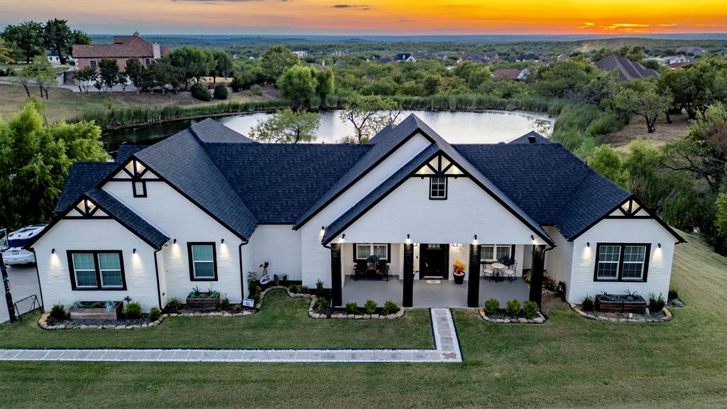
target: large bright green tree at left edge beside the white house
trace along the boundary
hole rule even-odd
[[[108,160],[100,127],[47,125],[42,111],[33,98],[9,121],[0,118],[0,226],[49,221],[71,162]]]

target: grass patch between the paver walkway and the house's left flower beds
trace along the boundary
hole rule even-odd
[[[401,319],[311,319],[308,303],[272,291],[249,317],[170,317],[141,330],[47,331],[28,316],[0,325],[0,348],[434,348],[427,310]]]

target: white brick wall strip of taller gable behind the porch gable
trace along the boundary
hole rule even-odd
[[[331,250],[321,245],[321,226],[328,226],[336,220],[430,144],[422,135],[414,135],[299,229],[301,253],[305,255],[301,263],[303,285],[316,285],[320,279],[326,287],[331,287]],[[397,237],[387,242],[401,240]],[[377,239],[377,242],[382,240]]]

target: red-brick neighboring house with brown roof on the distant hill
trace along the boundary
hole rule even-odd
[[[126,71],[126,60],[137,58],[148,67],[154,60],[169,54],[169,51],[171,49],[168,47],[142,39],[137,31],[133,36],[113,36],[113,44],[76,44],[71,54],[79,69],[88,65],[95,67],[104,58],[113,58],[119,64],[119,70]]]

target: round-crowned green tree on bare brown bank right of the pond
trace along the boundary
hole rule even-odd
[[[659,114],[672,105],[671,95],[659,94],[649,79],[623,83],[611,100],[617,110],[643,116],[648,133],[654,132]]]

